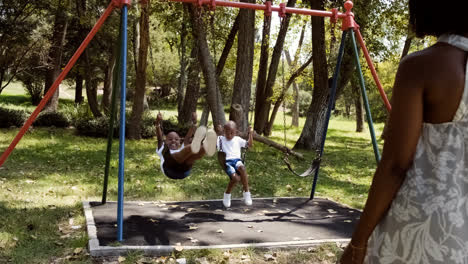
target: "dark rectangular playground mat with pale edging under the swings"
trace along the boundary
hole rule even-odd
[[[184,202],[126,202],[122,242],[117,243],[117,203],[83,202],[92,256],[139,250],[297,247],[348,242],[360,211],[315,198],[255,198]]]

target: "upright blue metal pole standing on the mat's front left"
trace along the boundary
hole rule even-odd
[[[124,161],[125,161],[125,99],[127,85],[127,15],[128,7],[122,7],[122,46],[120,50],[121,92],[120,92],[120,137],[119,137],[119,186],[117,203],[117,241],[123,240],[123,191],[124,191]]]

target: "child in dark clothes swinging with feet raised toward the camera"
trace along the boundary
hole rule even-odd
[[[163,118],[158,113],[156,118],[156,136],[158,138],[158,148],[156,153],[161,159],[161,171],[167,177],[181,180],[190,175],[193,164],[204,155],[213,156],[216,152],[216,133],[206,127],[200,126],[196,129],[197,114],[192,114],[192,126],[190,126],[184,142],[181,145],[179,134],[170,131],[164,138],[161,129]],[[195,133],[194,133],[195,131]],[[190,143],[191,137],[193,140]]]

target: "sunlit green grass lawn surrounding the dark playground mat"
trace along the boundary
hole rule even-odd
[[[1,100],[0,100],[1,103]],[[167,118],[174,111],[164,111]],[[200,116],[200,115],[199,115]],[[301,120],[304,122],[304,120]],[[289,122],[288,122],[289,123]],[[380,135],[382,124],[376,125]],[[330,123],[316,196],[362,208],[376,167],[368,132],[355,133],[354,121],[334,118]],[[283,142],[282,117],[271,139]],[[19,129],[0,129],[0,151]],[[287,145],[292,147],[301,130],[289,128]],[[382,142],[380,142],[382,143]],[[156,140],[127,141],[125,161],[126,200],[221,199],[227,184],[214,157],[199,161],[192,176],[183,181],[165,177],[155,153]],[[83,200],[100,200],[106,139],[80,137],[73,129],[40,128],[28,132],[5,164],[0,167],[0,263],[100,263],[86,254],[87,235],[81,208]],[[305,153],[309,158],[312,153]],[[118,141],[114,141],[108,200],[117,199]],[[254,142],[247,153],[247,171],[254,197],[308,197],[312,177],[288,172],[283,155]],[[294,160],[293,160],[294,161]],[[294,161],[298,170],[307,162]],[[236,187],[234,197],[241,197]],[[204,257],[208,263],[272,263],[264,254],[276,254],[276,263],[334,263],[340,249],[324,245],[314,249],[261,251],[182,251],[188,263]],[[118,261],[117,259],[115,259]],[[145,259],[133,253],[120,259],[157,263],[169,258]]]

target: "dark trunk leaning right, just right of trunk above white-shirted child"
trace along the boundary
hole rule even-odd
[[[294,7],[296,5],[296,0],[288,0],[287,7]],[[291,19],[291,14],[286,14],[286,17],[283,18],[281,22],[281,28],[278,33],[278,38],[276,39],[275,47],[273,48],[273,54],[271,55],[270,67],[268,69],[268,78],[265,84],[264,94],[263,94],[263,103],[261,103],[259,113],[259,126],[262,125],[261,132],[265,135],[268,135],[267,125],[268,125],[268,116],[270,114],[271,108],[271,97],[273,96],[273,86],[276,81],[276,73],[278,71],[279,62],[281,59],[281,53],[283,52],[284,40],[286,38],[286,33],[289,28],[289,21]],[[256,105],[257,106],[257,105]]]

